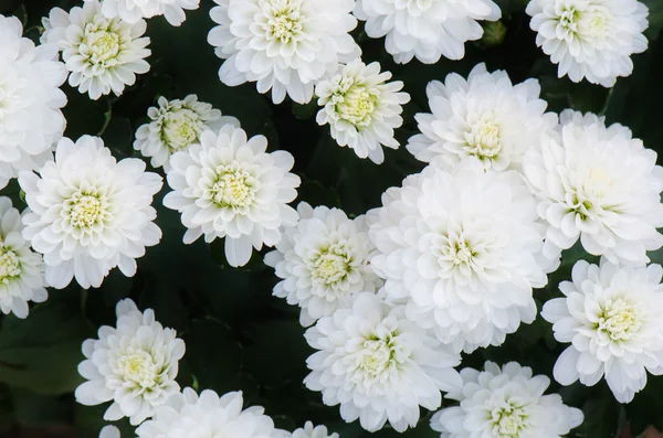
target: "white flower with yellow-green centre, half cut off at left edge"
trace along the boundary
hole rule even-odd
[[[42,302],[49,296],[42,257],[30,249],[22,229],[21,214],[9,197],[0,196],[0,310],[18,318],[28,317],[28,301]]]

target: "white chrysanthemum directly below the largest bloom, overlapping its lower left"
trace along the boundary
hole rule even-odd
[[[387,421],[400,432],[414,427],[419,406],[438,408],[440,391],[461,384],[453,368],[460,355],[407,319],[402,306],[391,307],[375,293],[358,295],[350,309],[322,318],[305,338],[319,350],[306,361],[312,370],[306,387],[369,431]]]

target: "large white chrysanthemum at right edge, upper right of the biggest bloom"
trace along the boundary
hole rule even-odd
[[[656,152],[618,124],[566,110],[561,135],[547,136],[524,158],[523,170],[550,227],[546,250],[585,249],[612,263],[642,265],[663,235],[663,168]]]

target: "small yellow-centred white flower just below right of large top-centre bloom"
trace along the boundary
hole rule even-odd
[[[402,105],[410,102],[409,94],[399,93],[403,83],[386,83],[390,78],[391,73],[380,73],[379,63],[366,65],[355,60],[315,87],[323,107],[317,115],[318,125],[329,124],[332,137],[339,146],[378,164],[385,161],[382,145],[398,149],[393,129],[403,124]]]

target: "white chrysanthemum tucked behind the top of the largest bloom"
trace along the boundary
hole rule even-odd
[[[421,133],[410,138],[407,148],[425,162],[476,157],[486,169],[519,169],[527,149],[557,126],[557,116],[545,113],[539,93],[537,79],[513,85],[506,72],[488,73],[483,63],[467,81],[451,73],[444,84],[428,85],[432,114],[414,116]]]

